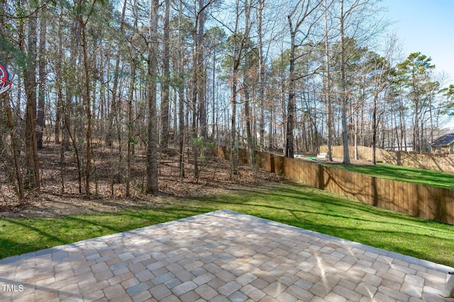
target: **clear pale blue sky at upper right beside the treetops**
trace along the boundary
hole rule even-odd
[[[432,58],[436,71],[454,83],[454,0],[383,0],[389,32],[402,42],[404,56],[421,52]]]

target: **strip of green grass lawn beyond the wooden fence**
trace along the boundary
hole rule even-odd
[[[323,164],[330,165],[330,164]],[[403,167],[402,165],[389,165],[379,163],[377,165],[330,165],[339,169],[349,170],[402,182],[413,182],[420,185],[431,185],[433,187],[445,187],[454,189],[454,174]]]

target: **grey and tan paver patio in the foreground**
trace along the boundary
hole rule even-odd
[[[5,258],[0,301],[450,301],[453,270],[222,210]]]

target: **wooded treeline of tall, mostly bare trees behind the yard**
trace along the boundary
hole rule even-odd
[[[212,143],[289,157],[327,144],[330,159],[343,144],[346,163],[349,146],[426,151],[454,86],[441,89],[426,54],[401,58],[381,12],[377,0],[0,1],[13,81],[0,95],[1,169],[23,200],[39,190],[45,139],[61,163],[72,151],[87,195],[97,146],[119,154],[126,195],[138,146],[151,194],[160,153],[177,151],[183,180],[184,157],[197,177]]]

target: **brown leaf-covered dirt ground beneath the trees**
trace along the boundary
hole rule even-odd
[[[97,148],[92,170],[90,195],[79,194],[77,165],[72,152],[65,152],[65,161],[60,163],[60,145],[48,144],[40,150],[41,188],[39,192],[26,192],[26,203],[18,204],[13,186],[7,181],[5,168],[0,169],[0,217],[55,217],[73,214],[115,212],[131,207],[160,207],[166,197],[196,197],[216,192],[228,192],[235,188],[259,185],[267,181],[282,181],[274,173],[240,165],[236,180],[230,178],[228,161],[209,156],[201,163],[201,173],[194,178],[194,165],[185,161],[185,178],[179,180],[178,155],[167,151],[159,158],[160,194],[143,193],[145,185],[145,154],[136,153],[131,173],[131,196],[126,197],[126,159],[108,148]],[[192,158],[187,153],[185,158]],[[112,164],[111,164],[112,163]],[[114,168],[111,168],[114,167]]]

